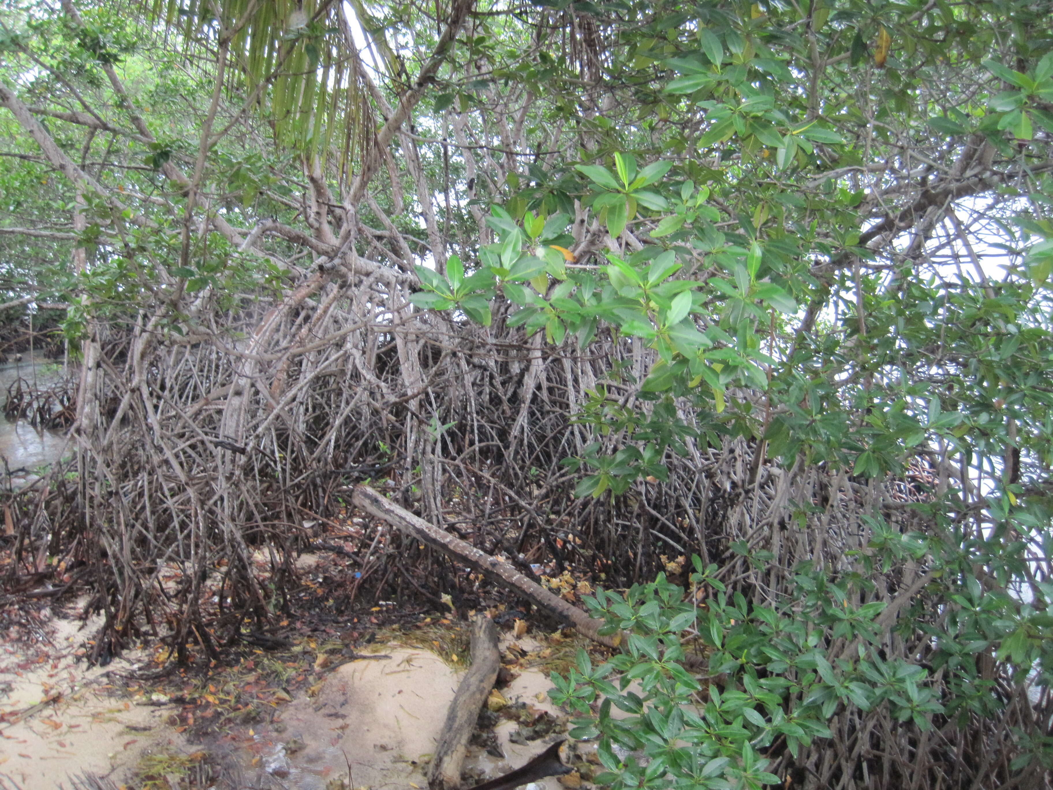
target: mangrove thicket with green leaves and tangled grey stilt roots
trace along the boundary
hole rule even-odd
[[[216,657],[383,480],[622,591],[601,784],[1048,786],[1051,17],[6,0],[0,290],[80,370],[12,575]],[[476,594],[385,547],[344,606]]]

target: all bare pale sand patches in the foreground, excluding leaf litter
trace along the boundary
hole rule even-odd
[[[113,673],[133,669],[135,655],[104,669],[77,663],[85,631],[54,621],[53,646],[39,656],[0,646],[0,790],[71,790],[71,777],[92,772],[118,787],[138,787],[134,771],[146,752],[187,754],[208,749],[239,787],[266,790],[363,790],[428,787],[428,761],[460,682],[458,671],[426,650],[384,648],[388,658],[359,659],[332,671],[314,696],[283,705],[274,719],[203,745],[191,745],[166,724],[174,708],[117,694]],[[510,638],[502,639],[502,649]],[[528,651],[538,646],[520,639]],[[505,699],[560,715],[540,670],[521,670]],[[159,700],[159,702],[163,702]],[[518,768],[555,736],[515,744],[513,722],[495,728],[504,759],[470,747],[465,768],[493,777]],[[471,781],[465,784],[471,785]],[[547,779],[531,790],[562,790]]]

